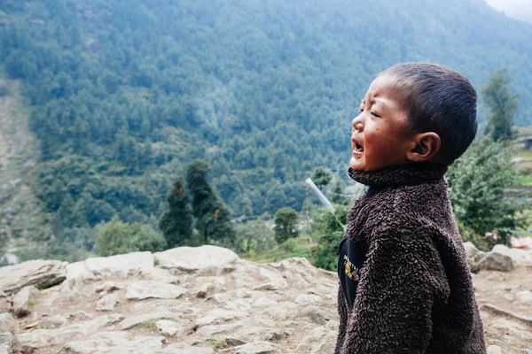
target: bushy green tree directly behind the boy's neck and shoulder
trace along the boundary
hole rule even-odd
[[[492,142],[487,136],[473,142],[448,173],[450,201],[463,230],[469,228],[481,236],[496,232],[500,235],[497,243],[510,241],[519,226],[520,205],[505,198],[505,189],[512,186],[516,175],[512,153],[504,142]],[[478,240],[466,241],[482,247]]]

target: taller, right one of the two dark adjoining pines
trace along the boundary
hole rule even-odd
[[[192,193],[192,214],[204,242],[234,239],[231,213],[207,181],[207,162],[196,159],[188,165],[186,183]]]

